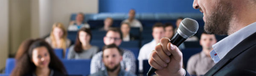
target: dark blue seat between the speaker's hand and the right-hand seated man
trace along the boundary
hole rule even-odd
[[[189,60],[189,58],[194,55],[197,54],[199,52],[201,52],[202,49],[201,48],[192,48],[192,49],[183,49],[181,50],[181,52],[183,53],[183,65],[184,68],[186,68],[187,62]]]

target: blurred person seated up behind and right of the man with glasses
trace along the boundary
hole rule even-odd
[[[123,41],[133,41],[135,39],[137,39],[137,37],[135,35],[132,35],[130,33],[131,27],[129,23],[122,23],[121,24],[121,32],[122,32],[122,40]]]

